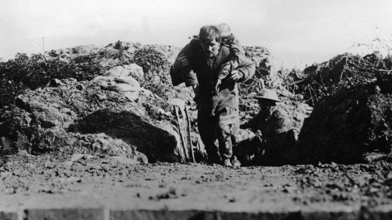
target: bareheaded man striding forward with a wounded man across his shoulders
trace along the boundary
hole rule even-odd
[[[242,47],[233,53],[234,44],[223,44],[228,41],[222,40],[221,33],[214,25],[201,27],[198,39],[180,51],[171,76],[173,85],[185,82],[194,88],[198,98],[197,128],[208,162],[239,166],[232,151],[240,125],[237,83],[254,74],[255,64],[241,53]],[[234,37],[230,39],[235,42]],[[239,56],[242,57],[237,59]]]

